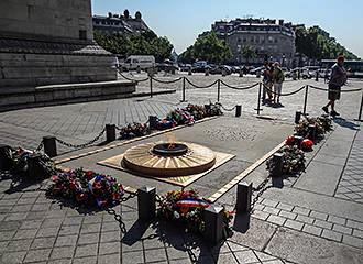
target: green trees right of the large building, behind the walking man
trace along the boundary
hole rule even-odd
[[[321,33],[321,29],[312,26],[306,29],[299,26],[296,33],[296,51],[305,54],[309,58],[337,58],[343,54],[348,59],[358,59],[359,57],[340,45],[336,38],[328,37]]]

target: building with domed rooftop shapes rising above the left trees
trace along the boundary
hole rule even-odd
[[[135,13],[135,18],[132,18],[128,10],[123,14],[109,12],[108,16],[94,15],[92,24],[94,30],[109,34],[139,34],[150,31],[139,11]]]

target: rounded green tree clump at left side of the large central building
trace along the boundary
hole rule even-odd
[[[224,63],[231,57],[231,48],[212,32],[209,35],[198,37],[195,44],[189,46],[187,51],[180,55],[180,61],[184,63],[193,63],[196,59],[201,59],[219,64]]]

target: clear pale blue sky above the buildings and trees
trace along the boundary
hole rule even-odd
[[[91,0],[92,13],[136,11],[151,30],[166,36],[179,54],[220,20],[246,15],[319,25],[363,58],[363,0]]]

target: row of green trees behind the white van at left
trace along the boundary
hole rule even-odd
[[[154,55],[156,62],[169,58],[173,45],[167,37],[158,37],[153,31],[142,34],[105,34],[95,31],[95,41],[110,53],[121,56]]]

